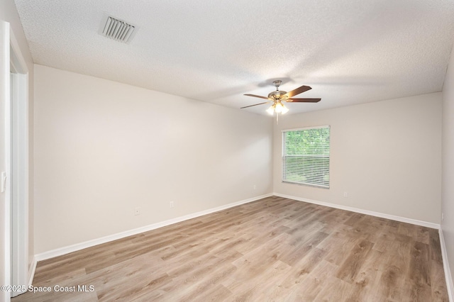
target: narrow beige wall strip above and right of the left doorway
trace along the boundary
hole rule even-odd
[[[16,5],[13,0],[1,0],[0,1],[0,20],[10,23],[11,31],[16,39],[19,51],[23,60],[25,60],[28,68],[28,89],[29,89],[29,98],[28,98],[28,113],[29,113],[29,205],[28,205],[28,215],[29,215],[29,228],[28,228],[28,247],[29,247],[29,264],[33,260],[33,59],[31,57],[31,52],[28,49],[28,43],[23,33],[23,28],[21,20],[19,19],[18,12],[16,10]]]

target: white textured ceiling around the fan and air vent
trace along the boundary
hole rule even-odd
[[[40,65],[239,108],[301,85],[289,113],[441,91],[452,0],[16,0]],[[109,14],[138,26],[99,35]],[[267,106],[242,109],[264,113]]]

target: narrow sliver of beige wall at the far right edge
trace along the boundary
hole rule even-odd
[[[441,229],[445,239],[452,281],[454,277],[454,52],[451,52],[443,84],[443,182],[441,192],[441,211],[444,216]]]

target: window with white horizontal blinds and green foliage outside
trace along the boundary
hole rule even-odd
[[[329,188],[330,126],[282,130],[282,181]]]

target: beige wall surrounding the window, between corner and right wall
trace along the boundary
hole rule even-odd
[[[314,125],[331,125],[331,188],[282,183],[281,130]],[[440,223],[440,188],[441,93],[284,116],[275,125],[278,194]]]

